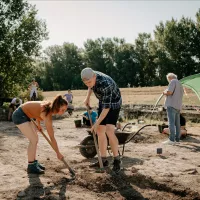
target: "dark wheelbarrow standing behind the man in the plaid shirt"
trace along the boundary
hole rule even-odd
[[[133,126],[133,125],[135,125],[135,123],[127,123],[122,128],[122,130],[116,130],[115,131],[116,137],[119,141],[119,145],[122,146],[122,151],[121,152],[119,151],[120,156],[124,155],[125,145],[127,143],[129,143],[132,139],[134,139],[134,137],[136,135],[138,135],[142,129],[144,129],[145,127],[148,127],[148,126],[157,126],[156,124],[147,124],[147,125],[144,125],[141,128],[139,128],[139,130],[137,130],[136,132],[135,131],[134,132],[127,131],[127,127]],[[86,136],[82,140],[80,145],[78,145],[79,151],[80,151],[81,155],[85,158],[94,158],[97,154],[96,149],[95,149],[95,145],[94,145],[94,139],[93,139],[91,131],[87,130],[87,132],[88,132],[88,136]],[[109,144],[109,142],[108,142],[108,144]],[[110,150],[109,145],[107,147],[107,150],[109,152],[109,150]]]

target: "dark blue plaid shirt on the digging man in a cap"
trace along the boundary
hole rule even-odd
[[[92,88],[95,96],[99,99],[99,107],[118,109],[122,105],[120,90],[115,81],[106,74],[94,71],[96,83]]]

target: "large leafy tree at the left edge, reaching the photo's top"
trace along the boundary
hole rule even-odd
[[[24,0],[0,1],[0,75],[2,94],[13,95],[32,72],[33,58],[47,39],[46,24],[36,18],[35,6]]]

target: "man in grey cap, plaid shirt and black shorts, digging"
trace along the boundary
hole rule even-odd
[[[115,135],[115,126],[118,120],[122,98],[120,90],[115,81],[108,75],[98,71],[93,71],[91,68],[85,68],[81,71],[83,83],[88,87],[86,106],[90,106],[90,96],[94,92],[99,99],[98,119],[92,126],[91,131],[97,133],[99,150],[103,161],[103,166],[108,166],[107,160],[107,137],[111,146],[114,162],[112,170],[118,173],[121,169],[120,156],[118,153],[118,139]],[[96,162],[90,167],[99,167],[99,162]]]

